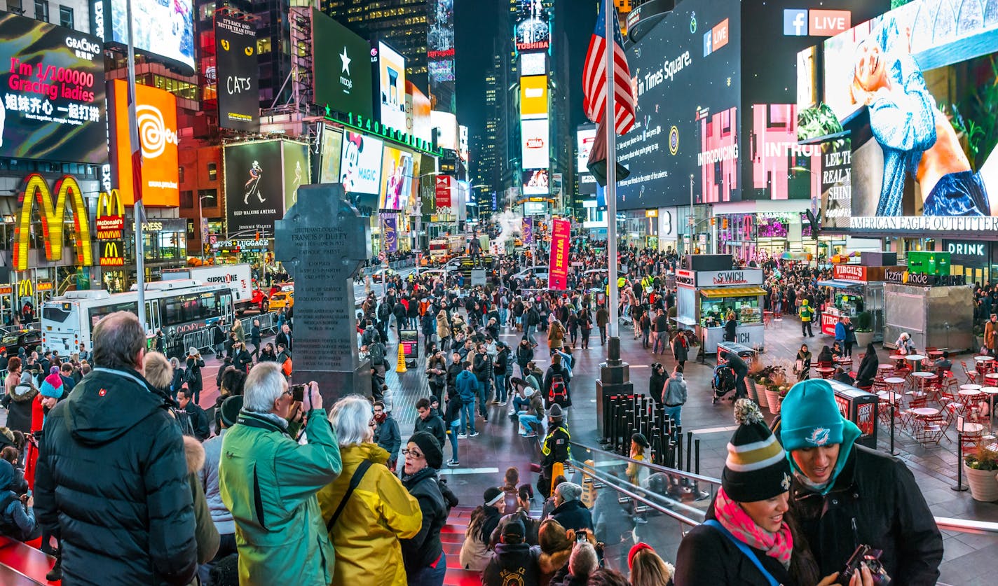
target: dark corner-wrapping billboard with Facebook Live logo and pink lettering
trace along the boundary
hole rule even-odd
[[[688,204],[691,188],[697,203],[820,194],[819,149],[796,141],[796,54],[888,0],[743,7],[686,0],[628,47],[637,121],[617,140],[631,171],[622,209]]]

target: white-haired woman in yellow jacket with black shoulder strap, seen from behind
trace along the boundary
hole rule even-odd
[[[336,431],[343,470],[318,492],[322,518],[336,552],[332,584],[405,586],[399,539],[422,527],[419,502],[385,462],[388,452],[373,442],[371,404],[358,395],[344,397],[329,412]],[[366,469],[360,469],[362,462]],[[346,496],[351,479],[356,488]],[[346,496],[339,516],[333,518]]]

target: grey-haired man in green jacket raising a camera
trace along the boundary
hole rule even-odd
[[[316,493],[339,475],[336,434],[318,386],[304,390],[305,444],[287,435],[291,391],[273,362],[246,381],[243,411],[222,440],[222,500],[236,521],[240,584],[326,586],[333,552]]]

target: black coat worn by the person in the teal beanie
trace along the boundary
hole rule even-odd
[[[848,458],[824,496],[795,478],[790,487],[790,507],[820,575],[842,569],[865,543],[883,550],[880,562],[893,584],[935,584],[942,536],[914,475],[901,460],[861,445],[854,446]]]

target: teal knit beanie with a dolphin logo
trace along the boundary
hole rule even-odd
[[[786,394],[779,411],[780,439],[786,451],[842,442],[842,414],[827,381],[797,383]]]

